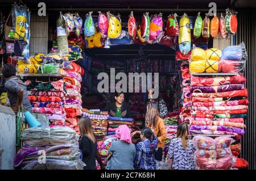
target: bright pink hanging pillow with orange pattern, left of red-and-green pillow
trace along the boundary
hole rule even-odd
[[[163,31],[162,13],[154,15],[150,23],[150,40],[156,40],[156,37]]]

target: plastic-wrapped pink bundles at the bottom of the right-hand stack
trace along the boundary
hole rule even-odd
[[[229,136],[193,137],[196,148],[194,153],[197,169],[205,170],[230,170],[236,163],[236,157],[232,155],[230,144],[233,139]]]

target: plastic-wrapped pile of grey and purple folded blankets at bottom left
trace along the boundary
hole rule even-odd
[[[16,154],[14,166],[22,170],[82,170],[85,166],[79,137],[71,128],[29,128],[21,140],[24,146]],[[41,162],[42,154],[46,157]]]

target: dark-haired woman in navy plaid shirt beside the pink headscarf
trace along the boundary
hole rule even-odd
[[[138,170],[156,170],[155,149],[158,144],[156,136],[150,128],[141,130],[141,142],[136,145],[136,157],[134,160],[134,169]]]

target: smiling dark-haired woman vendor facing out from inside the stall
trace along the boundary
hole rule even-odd
[[[108,111],[112,117],[130,118],[130,107],[125,101],[123,92],[115,93],[115,102],[107,104],[103,111]]]

